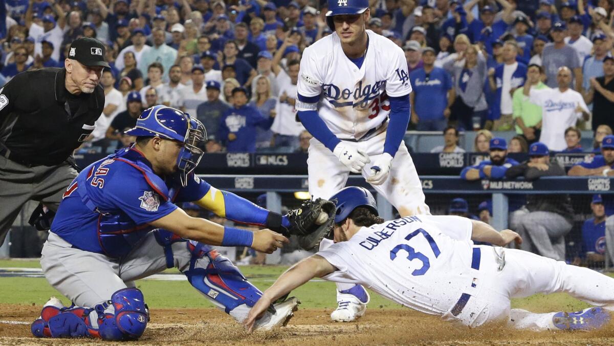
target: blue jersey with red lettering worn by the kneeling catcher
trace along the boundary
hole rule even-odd
[[[81,250],[120,258],[153,229],[148,222],[176,210],[173,202],[199,200],[211,188],[193,175],[180,187],[155,175],[138,150],[122,149],[72,181],[51,231]]]

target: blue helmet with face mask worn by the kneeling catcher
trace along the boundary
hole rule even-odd
[[[136,120],[136,126],[125,133],[131,136],[155,136],[184,143],[177,157],[181,186],[187,185],[187,176],[202,159],[204,151],[199,145],[207,140],[207,132],[200,121],[179,109],[161,105],[144,110]]]

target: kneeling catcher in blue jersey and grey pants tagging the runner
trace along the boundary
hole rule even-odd
[[[149,108],[126,133],[137,137],[132,147],[92,163],[64,193],[41,266],[50,285],[73,305],[64,307],[52,297],[31,326],[34,336],[138,339],[149,312],[133,281],[170,267],[242,323],[262,292],[209,245],[272,253],[288,242],[286,236],[303,235],[308,238],[302,241],[313,247],[334,217],[335,206],[328,201],[308,201],[282,216],[198,179],[193,170],[206,133],[198,120],[177,109]],[[223,227],[192,218],[173,202],[194,202],[219,216],[271,230]],[[322,208],[324,225],[317,226]],[[310,232],[315,235],[309,238]],[[297,304],[293,297],[271,304],[256,328],[285,324]]]

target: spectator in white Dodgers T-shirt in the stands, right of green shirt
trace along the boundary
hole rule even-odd
[[[586,107],[582,95],[569,88],[572,82],[572,71],[566,66],[559,68],[556,74],[558,88],[543,88],[535,90],[539,76],[529,75],[524,84],[523,93],[529,96],[532,103],[542,107],[542,134],[540,142],[553,151],[562,151],[565,143],[565,129],[575,126],[580,119],[588,120],[591,113]]]

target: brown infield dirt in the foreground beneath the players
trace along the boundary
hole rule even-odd
[[[40,311],[40,306],[1,304],[0,344],[115,344],[94,339],[36,339],[30,334],[29,323]],[[517,331],[497,324],[469,329],[410,309],[377,308],[369,309],[357,322],[333,323],[331,311],[299,308],[288,326],[249,335],[216,309],[153,308],[147,330],[130,345],[614,345],[614,324],[592,332]]]

